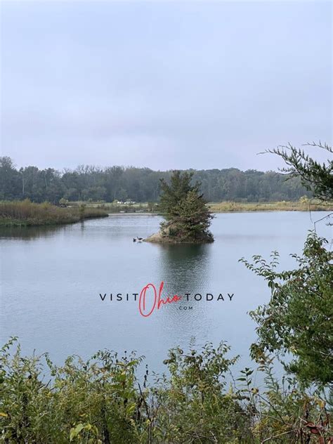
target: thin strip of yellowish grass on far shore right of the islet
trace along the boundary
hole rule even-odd
[[[230,213],[233,211],[333,211],[332,204],[301,199],[296,202],[210,202],[213,213]]]

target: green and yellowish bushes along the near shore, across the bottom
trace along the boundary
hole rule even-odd
[[[0,441],[3,443],[328,443],[323,396],[273,377],[260,389],[250,369],[237,384],[225,378],[236,358],[226,344],[169,351],[168,375],[136,371],[143,358],[99,351],[55,366],[48,355],[23,357],[15,339],[0,356]],[[48,377],[43,376],[43,361]],[[230,379],[230,378],[229,378]],[[232,379],[230,379],[232,380]],[[321,440],[318,440],[320,438]]]

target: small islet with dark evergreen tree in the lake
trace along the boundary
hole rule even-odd
[[[200,183],[191,185],[193,173],[174,171],[170,184],[161,179],[159,209],[166,221],[159,233],[148,237],[150,242],[213,242],[209,231],[211,219],[200,192]]]

